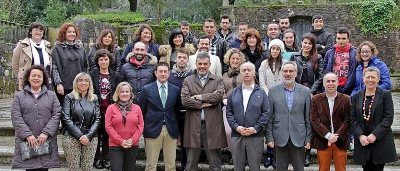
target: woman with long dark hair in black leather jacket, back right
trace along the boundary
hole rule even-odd
[[[324,64],[322,56],[318,54],[314,35],[306,33],[301,38],[302,50],[292,54],[290,61],[297,64],[297,77],[295,81],[310,88],[310,93],[315,95],[322,87],[324,79]],[[310,165],[311,149],[306,149],[305,166]]]

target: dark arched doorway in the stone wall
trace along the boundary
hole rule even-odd
[[[303,34],[310,32],[311,16],[292,16],[290,19],[290,28],[292,28],[300,39]]]

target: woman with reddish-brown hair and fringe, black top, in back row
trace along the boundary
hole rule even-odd
[[[260,33],[256,29],[250,28],[246,31],[242,44],[240,45],[240,51],[242,51],[246,57],[246,61],[250,61],[256,66],[257,80],[258,68],[260,68],[261,62],[267,55],[267,52],[262,47],[261,43]]]

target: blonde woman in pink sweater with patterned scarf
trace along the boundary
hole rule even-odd
[[[106,111],[111,170],[134,171],[144,127],[142,111],[132,103],[134,95],[128,82],[118,84],[112,98],[116,103]]]

